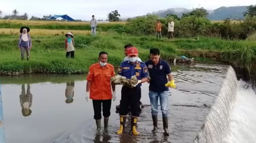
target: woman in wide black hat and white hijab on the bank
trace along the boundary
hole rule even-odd
[[[30,31],[29,27],[21,27],[20,37],[18,41],[18,48],[21,50],[21,59],[24,60],[24,53],[27,53],[27,60],[29,61],[29,50],[32,47],[31,38],[28,32]]]

